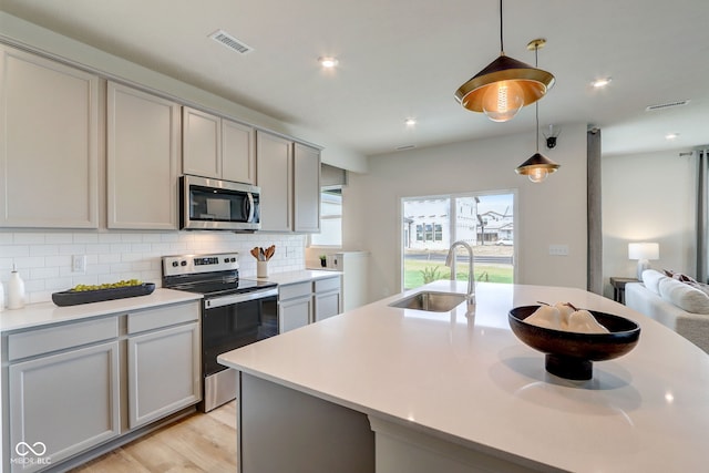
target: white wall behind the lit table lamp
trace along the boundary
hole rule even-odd
[[[686,151],[686,150],[682,150]],[[696,158],[664,151],[603,158],[604,295],[612,276],[635,277],[628,243],[656,241],[656,269],[696,276]]]

